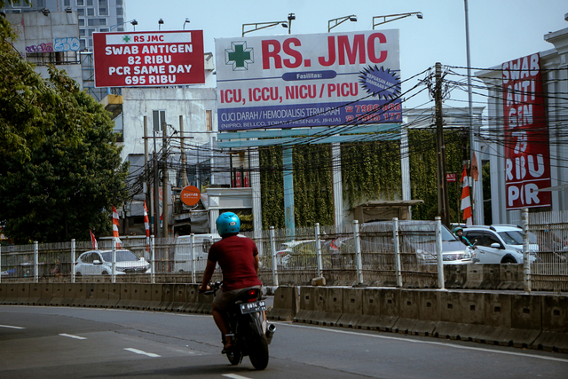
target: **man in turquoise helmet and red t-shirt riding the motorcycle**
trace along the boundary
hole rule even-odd
[[[255,241],[237,235],[241,230],[239,217],[233,212],[225,212],[217,217],[216,224],[222,240],[215,242],[209,249],[200,292],[210,289],[208,283],[218,263],[223,272],[223,287],[215,294],[212,310],[213,320],[223,336],[222,353],[226,353],[233,347],[232,341],[226,338],[229,333],[226,311],[234,297],[249,288],[260,288],[262,282],[258,279],[258,250]]]

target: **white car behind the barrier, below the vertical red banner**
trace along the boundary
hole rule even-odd
[[[515,225],[473,225],[463,228],[463,235],[476,243],[479,264],[522,264],[523,229]],[[529,234],[531,262],[539,250],[536,236]]]

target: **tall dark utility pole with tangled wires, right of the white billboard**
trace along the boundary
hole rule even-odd
[[[444,117],[442,115],[442,65],[436,63],[436,151],[438,162],[438,214],[442,224],[450,226],[450,202],[446,179],[446,144],[444,143]]]

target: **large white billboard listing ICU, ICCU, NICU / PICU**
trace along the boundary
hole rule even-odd
[[[219,130],[402,122],[398,29],[221,38]]]

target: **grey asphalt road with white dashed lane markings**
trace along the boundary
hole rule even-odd
[[[568,355],[277,323],[270,362],[230,366],[211,316],[0,306],[1,378],[566,378]]]

